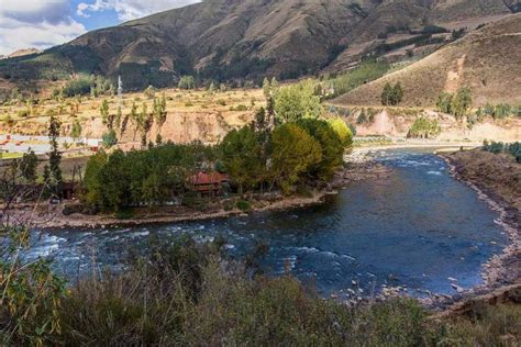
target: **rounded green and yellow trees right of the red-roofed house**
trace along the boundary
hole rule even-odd
[[[351,130],[339,119],[299,119],[273,131],[259,123],[232,131],[221,144],[224,170],[240,193],[274,187],[290,193],[296,186],[326,181],[352,142]]]

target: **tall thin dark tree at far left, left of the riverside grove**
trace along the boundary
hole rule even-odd
[[[51,116],[48,123],[48,138],[51,152],[48,154],[48,165],[44,168],[44,181],[47,193],[59,197],[59,188],[62,186],[62,153],[59,152],[58,137],[62,123],[54,115]]]

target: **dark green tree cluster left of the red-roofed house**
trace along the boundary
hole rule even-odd
[[[81,200],[91,211],[153,206],[182,197],[189,175],[214,163],[214,148],[171,143],[148,149],[100,152],[86,168]]]

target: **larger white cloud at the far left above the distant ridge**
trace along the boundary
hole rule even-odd
[[[0,0],[0,54],[63,44],[86,32],[68,0]]]

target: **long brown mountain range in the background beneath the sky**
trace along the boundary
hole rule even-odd
[[[430,46],[425,27],[473,30],[518,11],[516,1],[206,0],[93,31],[43,54],[2,60],[0,77],[121,75],[130,88],[173,85],[186,74],[291,79],[342,70],[383,47],[388,53],[414,40]]]

